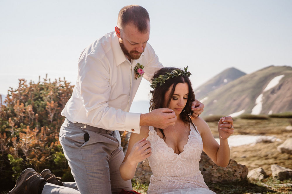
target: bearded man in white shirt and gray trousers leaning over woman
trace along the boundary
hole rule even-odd
[[[147,43],[150,18],[147,10],[129,5],[119,12],[115,31],[84,49],[72,97],[62,111],[60,143],[80,193],[119,193],[131,190],[119,166],[124,159],[119,131],[140,132],[140,126],[166,128],[173,125],[173,110],[129,113],[142,76],[149,80],[162,67]],[[141,76],[142,75],[142,76]],[[204,108],[194,102],[193,116]],[[31,172],[32,173],[32,172]],[[52,185],[45,184],[43,193]],[[65,191],[64,191],[65,192]]]

